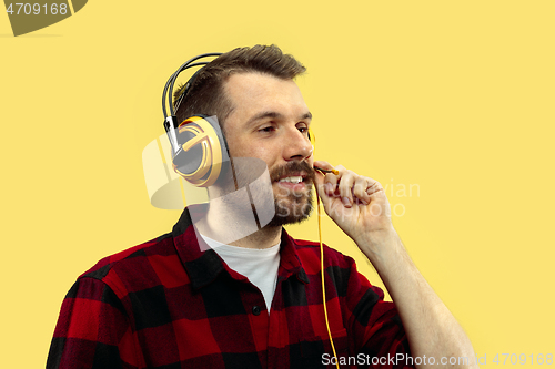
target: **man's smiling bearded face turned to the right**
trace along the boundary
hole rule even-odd
[[[295,82],[262,73],[232,74],[224,92],[233,110],[224,123],[232,157],[263,160],[270,171],[276,216],[297,223],[312,209],[314,178],[311,113]]]

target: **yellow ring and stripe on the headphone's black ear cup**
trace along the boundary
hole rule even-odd
[[[193,139],[182,145],[183,151],[188,152],[193,146],[201,145],[202,156],[199,167],[190,174],[180,172],[175,164],[173,168],[194,186],[213,185],[222,170],[222,145],[214,127],[204,117],[192,116],[179,125],[178,132],[189,132],[193,135]]]

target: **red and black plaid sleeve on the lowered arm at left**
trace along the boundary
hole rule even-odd
[[[47,368],[139,368],[129,317],[102,280],[82,277],[65,296]]]

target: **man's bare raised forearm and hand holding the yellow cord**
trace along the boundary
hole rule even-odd
[[[317,167],[331,170],[326,162]],[[395,303],[405,328],[412,357],[433,357],[417,368],[442,368],[442,358],[468,358],[443,367],[477,368],[472,344],[421,275],[391,223],[391,208],[380,183],[342,166],[340,174],[316,175],[316,188],[325,212],[356,243],[376,268]]]

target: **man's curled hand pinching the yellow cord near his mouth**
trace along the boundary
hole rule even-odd
[[[339,171],[339,175],[316,173],[317,194],[327,215],[359,247],[367,247],[363,252],[374,262],[373,258],[383,252],[381,245],[395,235],[390,203],[382,185],[342,165],[333,167],[327,162],[317,161],[314,166]]]

